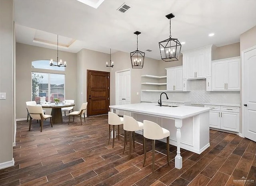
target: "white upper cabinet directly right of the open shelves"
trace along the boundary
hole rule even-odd
[[[182,67],[167,68],[166,75],[168,91],[183,91]]]

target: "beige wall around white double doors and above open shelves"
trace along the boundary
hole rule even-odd
[[[118,51],[111,55],[114,67],[110,70],[110,105],[116,104],[116,71],[130,69],[131,72],[131,103],[140,103],[141,75],[158,75],[158,60],[145,57],[143,69],[132,69],[130,53]],[[139,95],[136,95],[136,93]]]

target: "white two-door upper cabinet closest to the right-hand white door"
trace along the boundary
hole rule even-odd
[[[212,90],[240,90],[240,57],[212,61]]]

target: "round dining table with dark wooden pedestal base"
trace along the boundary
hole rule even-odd
[[[42,108],[51,108],[52,112],[52,124],[57,124],[57,123],[63,123],[63,118],[62,118],[62,111],[61,108],[64,107],[73,107],[75,104],[73,103],[50,103],[50,104],[39,104],[42,106]]]

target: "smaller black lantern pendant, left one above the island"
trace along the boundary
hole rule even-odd
[[[138,50],[138,35],[140,33],[139,31],[134,32],[137,35],[137,50],[130,53],[133,69],[142,69],[144,65],[145,53]]]

